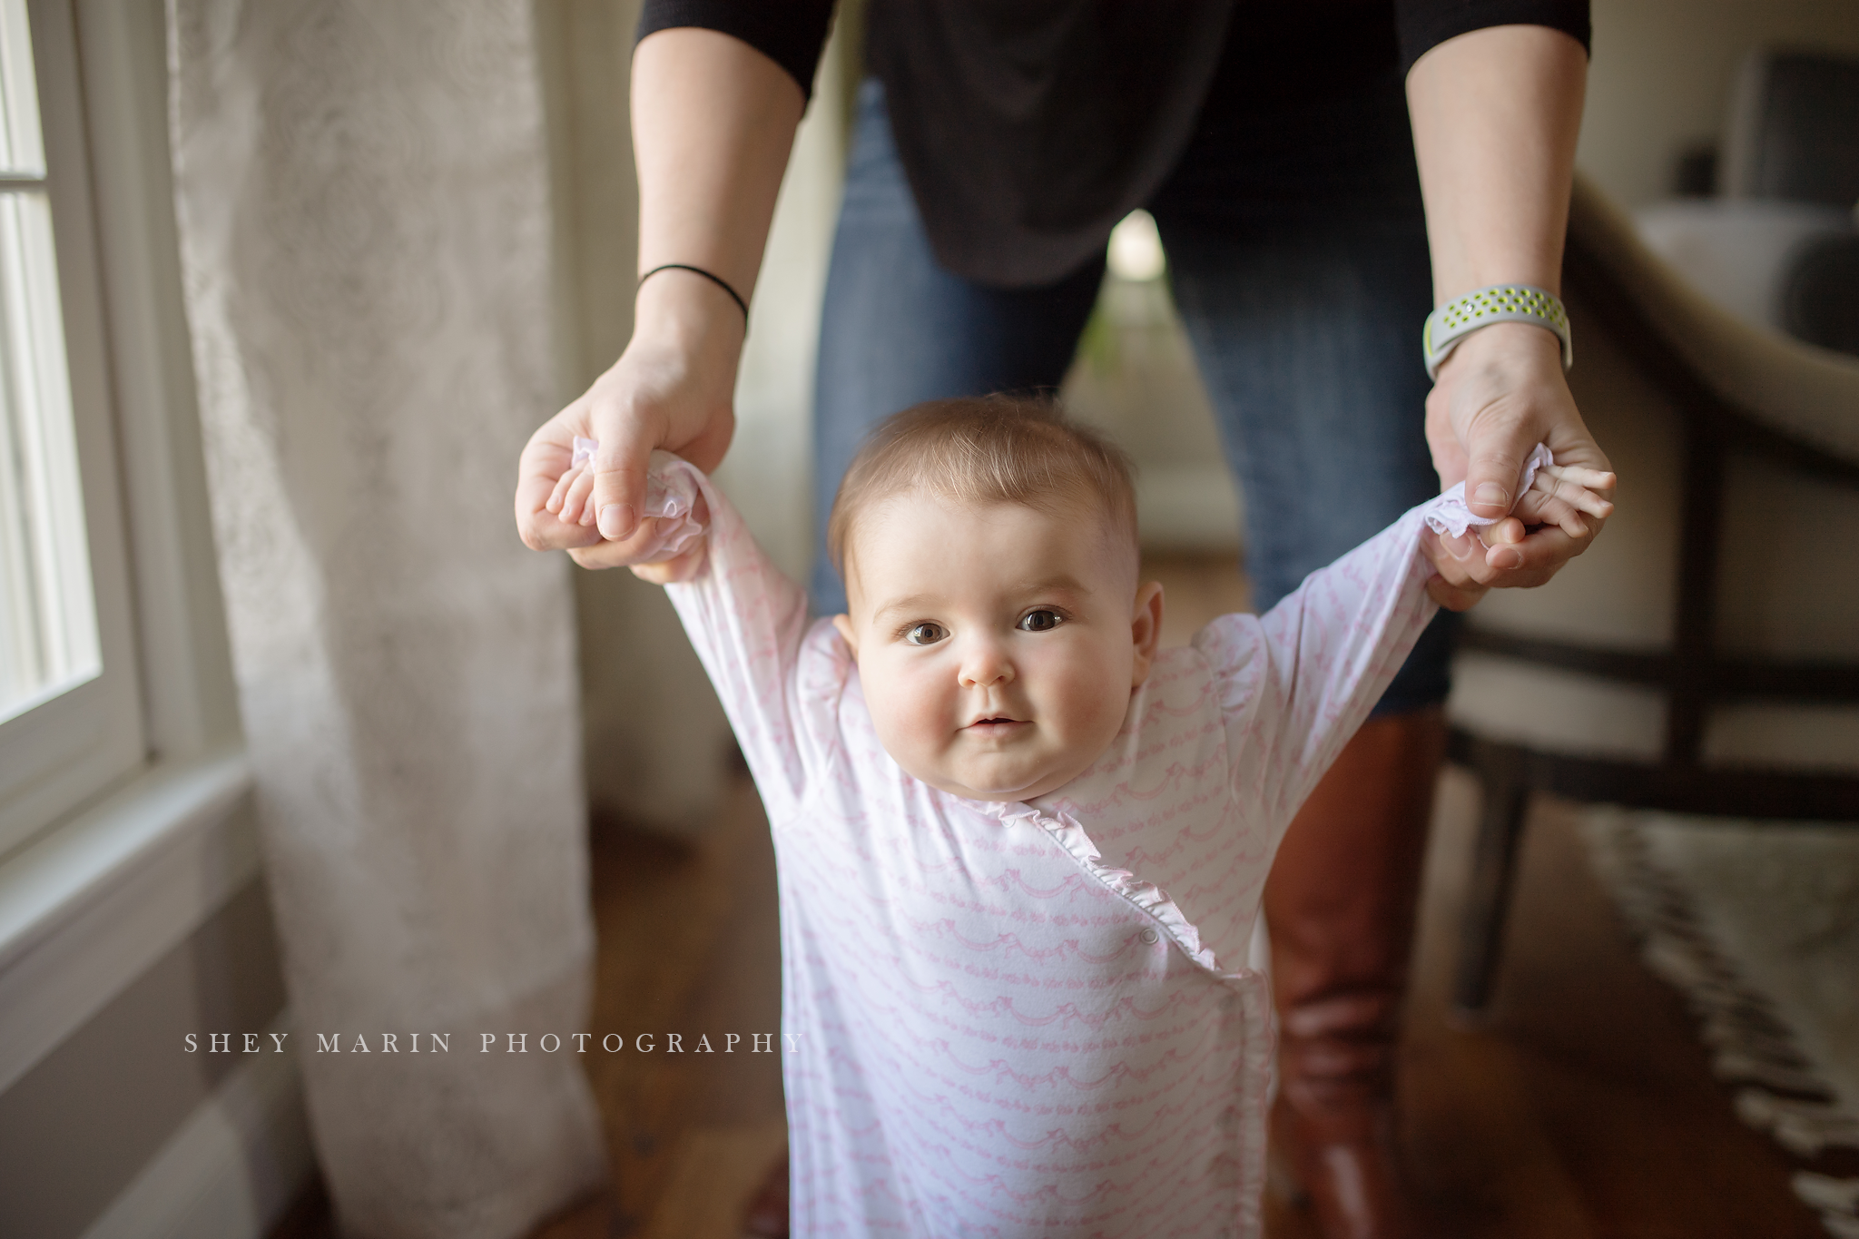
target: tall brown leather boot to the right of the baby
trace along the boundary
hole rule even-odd
[[[1394,1051],[1439,710],[1374,719],[1285,834],[1264,906],[1279,1011],[1273,1152],[1327,1239],[1418,1233],[1394,1154]]]

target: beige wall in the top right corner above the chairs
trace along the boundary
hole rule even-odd
[[[1669,197],[1679,154],[1718,137],[1749,48],[1859,56],[1859,0],[1593,0],[1593,20],[1576,162],[1628,208]]]

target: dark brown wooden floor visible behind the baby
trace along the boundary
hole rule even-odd
[[[1167,643],[1240,609],[1220,559],[1151,565]],[[1476,788],[1441,776],[1417,985],[1407,1022],[1405,1146],[1450,1239],[1814,1239],[1792,1163],[1731,1115],[1679,998],[1636,960],[1588,869],[1576,814],[1532,812],[1510,949],[1482,1027],[1446,1014],[1452,938]],[[775,1031],[773,854],[738,782],[697,845],[597,823],[597,1031]],[[664,927],[677,925],[675,936]],[[783,1146],[777,1055],[589,1055],[613,1187],[535,1239],[736,1239],[747,1196]],[[331,1233],[320,1193],[273,1239]],[[1266,1200],[1272,1239],[1314,1237]]]

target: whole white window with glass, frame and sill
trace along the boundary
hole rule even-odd
[[[4,1092],[251,882],[258,841],[162,0],[0,0],[0,128]]]

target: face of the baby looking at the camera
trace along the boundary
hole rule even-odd
[[[1136,554],[1106,524],[915,492],[861,518],[851,609],[833,622],[898,765],[1028,801],[1104,752],[1162,628],[1162,587],[1136,589]]]

